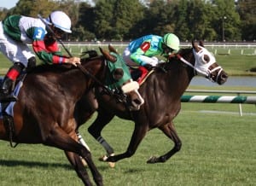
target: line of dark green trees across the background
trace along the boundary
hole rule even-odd
[[[20,0],[7,15],[47,17],[60,9],[71,17],[70,41],[130,41],[146,34],[173,32],[181,41],[211,42],[256,40],[254,0]]]

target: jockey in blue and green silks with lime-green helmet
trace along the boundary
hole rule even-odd
[[[163,38],[157,35],[146,35],[132,41],[125,49],[123,58],[126,65],[131,68],[139,68],[143,79],[148,69],[155,67],[160,61],[156,55],[168,57],[177,53],[179,49],[179,38],[173,33],[167,33]]]

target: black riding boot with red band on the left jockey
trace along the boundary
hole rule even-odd
[[[0,87],[0,102],[16,102],[17,97],[11,95],[15,86],[15,79],[19,77],[24,65],[20,62],[15,63],[13,67],[9,68],[8,73],[3,78],[3,83]]]

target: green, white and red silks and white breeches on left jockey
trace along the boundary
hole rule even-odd
[[[0,48],[10,61],[20,61],[25,67],[34,54],[44,62],[61,63],[68,57],[61,56],[54,39],[47,38],[47,29],[42,20],[22,15],[11,15],[0,22]],[[3,39],[8,42],[3,43]],[[8,49],[4,48],[9,47]],[[13,51],[13,52],[10,52]]]

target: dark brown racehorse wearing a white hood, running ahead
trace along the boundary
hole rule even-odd
[[[107,155],[102,160],[116,162],[131,157],[135,154],[147,131],[154,128],[160,129],[169,137],[174,142],[174,147],[160,157],[151,157],[148,163],[165,162],[180,150],[182,142],[177,136],[173,119],[181,109],[180,99],[191,79],[195,75],[201,75],[212,82],[224,84],[228,78],[227,73],[218,66],[215,57],[204,48],[202,42],[200,44],[192,42],[192,46],[192,48],[180,49],[178,54],[171,57],[168,62],[160,63],[154,68],[154,73],[151,73],[139,88],[145,102],[138,111],[126,109],[125,104],[115,102],[113,98],[103,94],[101,89],[96,89],[97,116],[88,131],[107,151]],[[95,102],[95,100],[91,99],[86,102]],[[78,104],[83,104],[83,102],[78,102]],[[84,105],[84,115],[87,116],[96,110],[96,108],[86,108],[88,106],[89,104]],[[81,119],[82,115],[80,114],[80,119],[78,119],[79,125],[85,122]],[[125,153],[113,155],[113,148],[102,137],[101,132],[115,115],[121,119],[133,120],[135,127]]]

